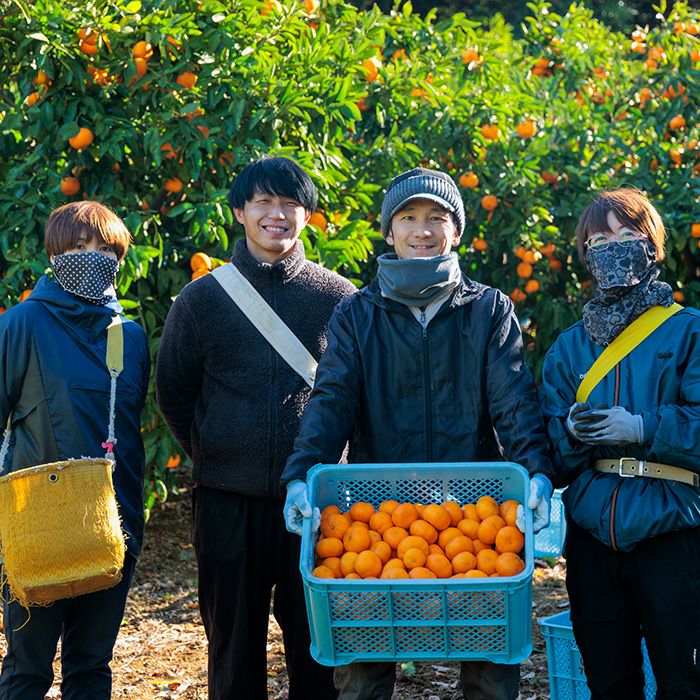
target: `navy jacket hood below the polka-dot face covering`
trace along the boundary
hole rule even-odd
[[[114,311],[83,301],[46,275],[36,283],[24,303],[40,303],[68,333],[83,341],[95,342],[109,325]]]

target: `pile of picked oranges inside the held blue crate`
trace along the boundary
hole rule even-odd
[[[519,503],[491,496],[460,506],[358,502],[345,513],[321,512],[318,578],[480,578],[515,576],[525,568]]]

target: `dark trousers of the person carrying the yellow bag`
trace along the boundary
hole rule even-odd
[[[0,699],[44,700],[53,683],[60,638],[63,700],[109,700],[109,662],[135,565],[136,559],[127,554],[122,580],[113,588],[57,600],[49,607],[31,607],[30,613],[18,603],[5,603],[7,653],[0,674]]]

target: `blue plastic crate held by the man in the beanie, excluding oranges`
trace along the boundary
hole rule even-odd
[[[312,506],[341,511],[358,501],[525,502],[529,477],[513,463],[317,465],[307,475]],[[488,660],[517,663],[532,651],[532,512],[526,510],[525,570],[509,578],[320,579],[315,537],[304,523],[300,569],[311,654],[326,666],[355,661]]]

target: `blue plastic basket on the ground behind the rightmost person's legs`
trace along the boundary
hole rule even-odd
[[[574,640],[569,611],[565,610],[557,615],[545,617],[539,622],[547,645],[551,700],[590,700],[591,693],[586,685],[583,659]],[[651,670],[644,640],[642,640],[642,656],[646,681],[644,697],[646,700],[654,700],[656,680]]]

